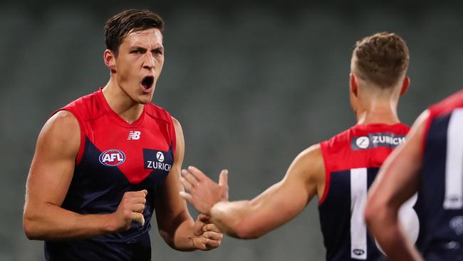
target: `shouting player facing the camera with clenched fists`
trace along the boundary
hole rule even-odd
[[[46,260],[151,260],[150,220],[176,250],[211,250],[222,234],[178,194],[180,123],[150,103],[164,64],[164,21],[128,10],[105,25],[104,88],[48,119],[26,185],[24,230]]]

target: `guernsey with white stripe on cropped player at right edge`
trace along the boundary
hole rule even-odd
[[[429,108],[420,184],[426,260],[463,260],[463,90]]]

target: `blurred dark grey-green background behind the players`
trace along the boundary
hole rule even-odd
[[[228,168],[231,200],[261,193],[301,150],[355,123],[348,73],[363,36],[395,31],[410,47],[405,123],[463,86],[457,1],[1,1],[0,260],[43,260],[21,226],[36,136],[54,110],[105,85],[103,24],[133,7],[166,21],[153,103],[182,123],[184,166],[215,180]],[[259,240],[226,237],[212,252],[176,252],[152,230],[152,259],[323,260],[316,201]]]

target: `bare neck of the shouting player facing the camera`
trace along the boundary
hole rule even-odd
[[[137,121],[143,112],[143,104],[133,101],[113,81],[109,81],[105,88],[103,88],[103,96],[105,96],[110,108],[128,123]]]

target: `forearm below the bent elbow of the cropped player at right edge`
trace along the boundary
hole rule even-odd
[[[370,232],[375,235],[385,251],[388,260],[400,261],[422,261],[415,247],[407,239],[405,232],[400,225],[397,212],[376,212],[367,217]]]

